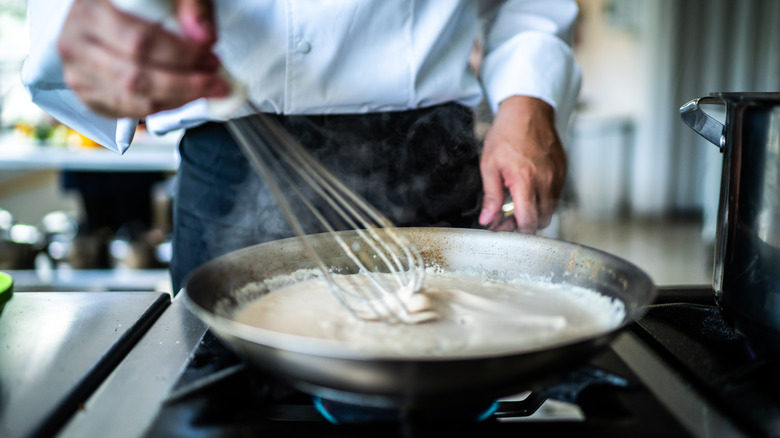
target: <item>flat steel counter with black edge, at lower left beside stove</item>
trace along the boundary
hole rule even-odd
[[[0,436],[50,436],[170,304],[160,292],[17,292],[0,314]]]

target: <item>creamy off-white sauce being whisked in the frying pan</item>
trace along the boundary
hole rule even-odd
[[[239,293],[251,294],[258,287],[249,284]],[[360,320],[321,279],[274,290],[238,309],[234,319],[276,332],[343,341],[367,354],[447,357],[549,347],[605,333],[625,317],[619,300],[543,280],[503,282],[429,272],[421,292],[437,320],[396,325]]]

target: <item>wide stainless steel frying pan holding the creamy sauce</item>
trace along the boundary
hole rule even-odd
[[[296,238],[228,253],[199,267],[183,291],[185,303],[229,348],[294,387],[325,399],[404,409],[491,401],[532,390],[581,365],[605,348],[655,299],[655,287],[631,263],[581,245],[544,237],[452,228],[401,228],[426,266],[478,270],[487,278],[544,278],[596,290],[620,300],[625,318],[613,330],[543,348],[458,357],[392,357],[360,353],[336,341],[251,327],[231,319],[257,298],[237,291],[250,282],[312,269]],[[340,232],[350,241],[354,232]],[[328,235],[310,236],[318,253],[339,254]],[[346,266],[346,260],[326,259]]]

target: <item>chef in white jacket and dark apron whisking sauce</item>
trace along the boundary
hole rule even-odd
[[[29,0],[22,79],[37,105],[119,153],[132,143],[128,120],[185,129],[174,290],[215,256],[290,235],[204,104],[231,92],[221,68],[396,225],[549,223],[581,79],[574,0],[171,1],[176,32],[108,0]],[[481,102],[492,113],[482,144]]]

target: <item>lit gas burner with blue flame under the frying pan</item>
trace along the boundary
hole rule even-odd
[[[333,424],[354,423],[403,423],[408,421],[428,423],[479,423],[493,415],[498,402],[469,403],[463,406],[430,407],[406,410],[362,406],[314,397],[317,411]]]

